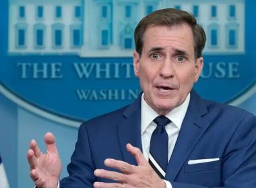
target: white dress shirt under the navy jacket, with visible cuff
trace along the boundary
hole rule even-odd
[[[181,124],[187,112],[187,107],[189,106],[190,93],[187,95],[187,99],[179,107],[172,109],[167,115],[165,115],[171,121],[170,124],[166,125],[166,132],[168,134],[168,160],[172,155],[172,151],[176,144],[179,131],[181,130]],[[142,142],[142,151],[143,156],[148,160],[148,155],[150,152],[150,138],[154,130],[156,129],[156,124],[153,120],[158,117],[158,113],[154,111],[146,103],[144,95],[141,97],[141,142]],[[166,182],[167,188],[172,188],[172,185],[169,181]]]

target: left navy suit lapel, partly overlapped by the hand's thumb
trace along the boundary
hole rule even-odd
[[[129,164],[137,164],[135,158],[126,150],[126,144],[130,143],[142,151],[141,146],[141,95],[127,107],[123,118],[117,125],[119,143],[123,160]]]

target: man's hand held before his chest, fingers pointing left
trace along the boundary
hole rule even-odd
[[[132,154],[137,162],[137,166],[128,164],[121,160],[115,160],[107,158],[104,161],[106,167],[119,169],[121,173],[106,171],[103,169],[96,169],[94,175],[96,177],[102,177],[111,179],[119,183],[103,183],[95,182],[95,188],[101,187],[166,187],[164,180],[160,179],[155,171],[152,169],[146,158],[144,158],[139,148],[133,147],[131,144],[127,144],[127,151]]]

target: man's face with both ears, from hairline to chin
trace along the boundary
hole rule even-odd
[[[195,60],[193,34],[187,24],[150,26],[141,56],[133,53],[133,66],[145,101],[166,115],[185,101],[199,78],[203,58]]]

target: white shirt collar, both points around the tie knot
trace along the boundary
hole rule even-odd
[[[189,106],[190,101],[190,93],[187,95],[186,100],[179,105],[178,107],[175,107],[170,111],[167,115],[165,115],[167,118],[169,118],[179,130],[181,129],[181,124],[183,122],[183,119],[185,117],[185,114],[187,112],[187,107]],[[158,116],[159,114],[154,111],[146,103],[144,99],[144,93],[141,96],[141,134],[148,128],[150,123]]]

